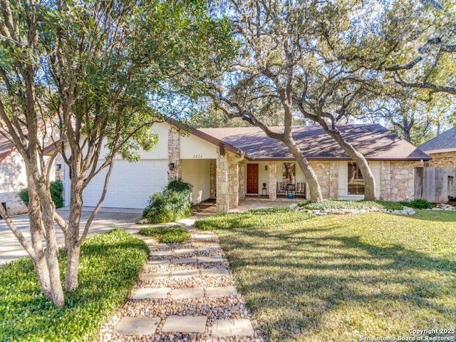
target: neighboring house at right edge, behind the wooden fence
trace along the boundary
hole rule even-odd
[[[418,146],[432,157],[430,167],[456,167],[456,127]]]

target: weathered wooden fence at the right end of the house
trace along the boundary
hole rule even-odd
[[[456,199],[456,167],[415,168],[415,198],[431,203]]]

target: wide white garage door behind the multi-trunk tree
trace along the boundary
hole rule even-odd
[[[83,205],[95,207],[103,191],[106,171],[90,181],[84,190]],[[144,209],[152,193],[167,185],[166,160],[115,160],[103,207]]]

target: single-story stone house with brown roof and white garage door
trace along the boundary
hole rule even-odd
[[[346,125],[340,130],[366,156],[380,199],[413,198],[415,165],[430,160],[428,155],[380,125]],[[115,160],[103,207],[144,208],[153,192],[178,178],[193,185],[193,202],[216,198],[217,212],[236,207],[246,195],[309,197],[303,172],[287,147],[259,128],[195,129],[167,120],[152,131],[158,135],[157,146],[140,151],[139,162]],[[324,198],[363,198],[361,172],[333,138],[314,125],[296,126],[293,134],[314,167]],[[68,174],[66,167],[66,189]],[[89,183],[84,206],[97,204],[104,175]]]

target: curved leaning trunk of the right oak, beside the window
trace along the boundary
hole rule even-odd
[[[326,129],[325,129],[326,130]],[[371,167],[369,167],[368,161],[366,158],[358,152],[355,147],[353,147],[349,142],[343,139],[341,133],[338,130],[326,130],[328,135],[331,135],[342,149],[348,153],[348,155],[356,162],[361,175],[363,175],[364,180],[364,199],[366,201],[375,201],[375,178],[373,177]]]

